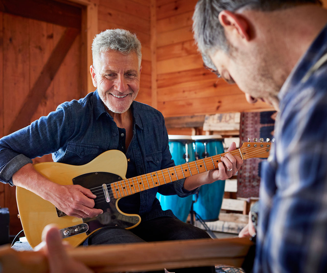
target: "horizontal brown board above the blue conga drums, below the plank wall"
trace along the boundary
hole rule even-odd
[[[182,116],[182,117],[166,117],[166,128],[185,128],[185,127],[202,127],[205,115],[198,116]]]

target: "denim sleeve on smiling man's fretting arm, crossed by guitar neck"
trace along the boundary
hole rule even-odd
[[[172,159],[169,144],[168,144],[168,133],[166,126],[163,120],[163,149],[162,149],[162,169],[169,168],[175,166],[175,162]],[[162,185],[158,187],[158,192],[163,195],[174,195],[177,194],[179,197],[186,197],[191,194],[194,194],[198,188],[194,189],[193,191],[188,191],[184,189],[184,182],[185,178],[178,179],[173,183],[168,183],[166,185]]]

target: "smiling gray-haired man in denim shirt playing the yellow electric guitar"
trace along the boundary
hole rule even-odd
[[[156,194],[188,196],[200,185],[231,177],[242,165],[242,159],[228,153],[216,169],[159,185],[159,179],[152,173],[174,166],[174,161],[163,115],[135,101],[142,71],[141,43],[127,30],[109,29],[96,35],[92,52],[90,72],[95,92],[80,100],[64,102],[47,117],[1,138],[0,180],[32,191],[65,214],[89,222],[91,235],[84,245],[210,238],[204,230],[178,220],[171,210],[163,211]],[[230,149],[235,150],[235,143]],[[117,203],[110,185],[102,190],[103,182],[97,182],[101,189],[97,193],[90,190],[94,184],[57,184],[31,164],[31,158],[52,153],[56,162],[84,165],[108,150],[120,150],[126,155],[126,178],[134,177],[129,180],[131,184],[122,187],[129,195]],[[112,173],[126,171],[125,164],[121,162],[121,170]],[[145,173],[151,176],[147,176],[143,185],[137,177]],[[132,188],[135,181],[138,190]],[[91,180],[89,184],[95,182]],[[94,193],[104,194],[112,205],[95,206]],[[97,230],[98,227],[102,228]],[[204,273],[215,272],[215,268],[173,271]]]

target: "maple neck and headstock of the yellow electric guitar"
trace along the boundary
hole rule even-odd
[[[248,159],[253,157],[267,158],[269,155],[270,142],[245,142],[242,147],[233,150],[232,155],[238,155],[240,158]],[[169,167],[160,171],[142,174],[136,177],[120,180],[111,184],[112,193],[115,198],[121,198],[134,194],[136,192],[145,191],[163,184],[186,178],[194,174],[203,173],[218,167],[221,157],[227,153],[198,159],[196,161],[184,163],[179,166]]]

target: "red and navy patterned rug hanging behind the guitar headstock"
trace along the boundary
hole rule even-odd
[[[240,146],[244,142],[253,142],[253,138],[273,138],[277,112],[242,112],[240,122]],[[260,141],[259,141],[260,142]],[[266,158],[246,159],[237,176],[237,197],[259,197],[261,162]]]

